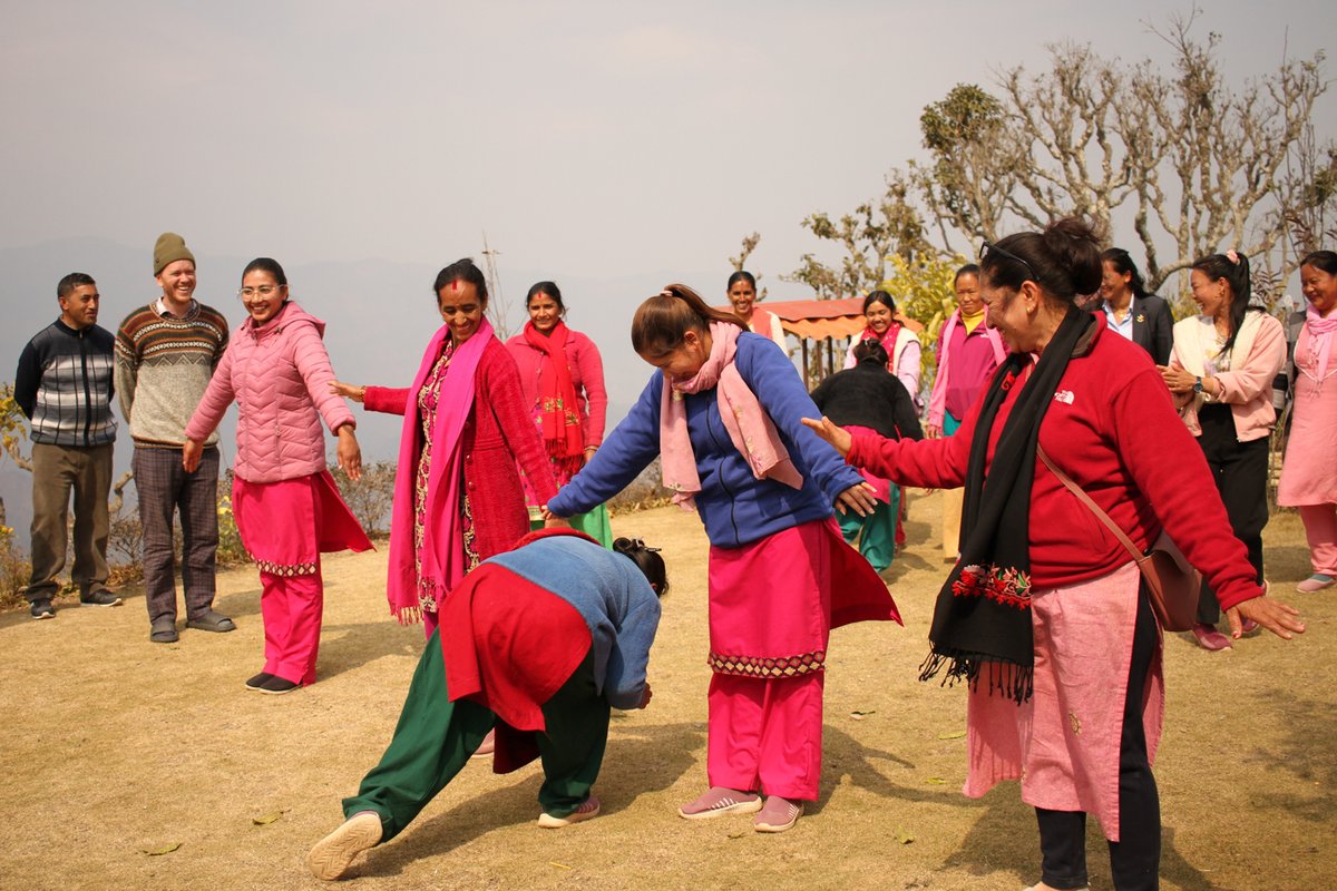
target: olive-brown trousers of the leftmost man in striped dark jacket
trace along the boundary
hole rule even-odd
[[[87,594],[107,585],[107,494],[112,445],[80,448],[35,442],[32,446],[32,576],[29,601],[51,600],[66,568],[70,493],[75,497],[75,564],[70,572]]]

